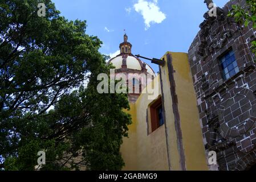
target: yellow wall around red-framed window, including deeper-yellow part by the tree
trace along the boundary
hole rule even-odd
[[[151,92],[142,93],[135,104],[130,104],[131,110],[127,111],[132,115],[132,125],[129,126],[129,138],[124,138],[120,150],[125,162],[123,170],[168,170],[165,128],[161,126],[148,135],[146,122],[148,106],[161,94],[159,79],[160,77],[157,76],[153,82],[148,84],[148,87],[157,89],[155,93],[158,94],[153,96]],[[148,117],[150,122],[149,112]]]

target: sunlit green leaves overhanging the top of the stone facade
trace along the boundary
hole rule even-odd
[[[246,0],[246,6],[233,5],[229,16],[234,17],[236,22],[244,24],[246,27],[251,25],[256,28],[256,0]],[[252,51],[256,55],[256,41],[251,42]]]

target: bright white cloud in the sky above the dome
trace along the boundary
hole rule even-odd
[[[153,2],[139,0],[133,7],[137,13],[143,16],[145,30],[148,30],[151,24],[161,23],[166,18],[166,15],[157,6],[157,0],[153,0]]]

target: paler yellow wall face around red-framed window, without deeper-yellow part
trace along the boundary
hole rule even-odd
[[[149,97],[149,93],[143,93],[136,102],[137,112],[137,166],[139,170],[168,170],[168,158],[165,140],[165,128],[159,127],[153,133],[147,131],[147,109],[152,101],[161,94],[160,77],[157,76],[148,87],[155,87],[155,96]],[[148,111],[148,122],[150,113]],[[150,130],[149,130],[150,131]]]

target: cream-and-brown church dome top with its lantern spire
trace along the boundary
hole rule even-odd
[[[155,77],[155,72],[139,58],[132,55],[132,44],[127,42],[128,36],[124,35],[124,42],[120,44],[120,54],[109,60],[116,69],[133,69],[140,72],[146,72]]]

